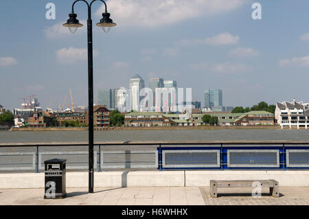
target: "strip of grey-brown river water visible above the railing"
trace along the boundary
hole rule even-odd
[[[309,141],[309,130],[111,130],[96,131],[95,142],[104,141]],[[88,141],[87,131],[3,131],[0,143],[52,143]]]

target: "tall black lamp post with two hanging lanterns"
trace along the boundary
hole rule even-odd
[[[72,5],[72,13],[69,14],[69,19],[67,23],[64,24],[65,27],[69,27],[69,30],[74,34],[78,27],[83,25],[76,19],[77,14],[74,14],[74,5],[78,1],[83,1],[88,6],[88,100],[89,100],[89,109],[88,109],[88,127],[89,127],[89,193],[93,193],[93,45],[92,45],[92,20],[91,20],[91,6],[95,1],[102,1],[105,5],[105,12],[102,14],[103,18],[100,20],[100,23],[97,23],[98,27],[102,27],[104,32],[108,32],[111,27],[116,24],[113,23],[113,20],[109,18],[111,14],[107,12],[107,6],[103,0],[93,0],[89,4],[85,0],[76,0]]]

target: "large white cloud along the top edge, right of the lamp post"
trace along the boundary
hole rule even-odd
[[[113,0],[108,1],[111,19],[119,25],[154,27],[200,16],[212,16],[239,8],[248,0]],[[104,5],[96,12],[104,12]]]

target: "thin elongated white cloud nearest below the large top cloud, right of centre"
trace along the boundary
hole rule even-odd
[[[175,44],[181,46],[191,46],[191,45],[233,45],[238,43],[240,40],[239,36],[233,36],[232,34],[225,32],[218,34],[216,36],[207,37],[203,39],[191,39],[178,41]]]

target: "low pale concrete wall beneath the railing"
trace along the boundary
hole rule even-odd
[[[209,186],[210,180],[275,179],[281,186],[309,186],[309,170],[186,170],[95,172],[95,187]],[[44,173],[0,174],[0,189],[43,188]],[[88,172],[68,172],[67,187],[88,187]]]

